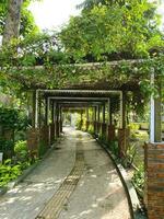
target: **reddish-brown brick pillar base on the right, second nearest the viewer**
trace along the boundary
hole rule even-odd
[[[127,147],[129,145],[130,130],[128,128],[118,129],[118,147],[119,155],[125,157],[127,153]]]

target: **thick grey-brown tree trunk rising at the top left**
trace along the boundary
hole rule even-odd
[[[9,0],[2,41],[3,45],[9,44],[12,38],[19,37],[22,2],[23,0]]]

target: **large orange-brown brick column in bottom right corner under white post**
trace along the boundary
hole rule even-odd
[[[164,143],[148,143],[144,149],[145,205],[149,219],[164,218]]]

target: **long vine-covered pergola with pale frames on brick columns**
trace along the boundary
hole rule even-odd
[[[141,61],[130,60],[127,62],[137,64]],[[117,61],[107,62],[106,66],[117,66]],[[54,74],[50,73],[47,73],[47,77],[44,76],[43,79],[47,79],[45,82],[42,77],[39,81],[38,79],[33,79],[33,77],[23,74],[22,69],[20,70],[20,76],[9,73],[9,77],[21,81],[24,87],[27,87],[33,92],[33,128],[27,132],[27,143],[31,152],[37,153],[40,142],[49,147],[59,137],[62,131],[62,110],[69,107],[85,110],[86,129],[92,125],[95,134],[103,134],[107,140],[113,140],[115,138],[116,127],[112,119],[110,108],[112,100],[115,100],[120,106],[118,128],[119,155],[126,155],[127,145],[129,142],[129,129],[126,124],[126,92],[140,91],[140,81],[143,79],[143,76],[133,73],[127,78],[122,78],[119,74],[109,74],[107,77],[107,74],[103,73],[104,66],[102,64],[72,65],[72,74],[77,73],[77,68],[81,72],[79,74],[79,81],[71,82],[70,80],[66,80],[61,85],[59,85],[59,82],[65,78],[61,77],[61,69],[58,73],[59,78],[54,78]],[[101,73],[95,77],[94,74],[97,74],[97,69]],[[46,69],[43,67],[32,68],[32,71],[35,72],[35,70],[40,71],[40,76],[42,72],[46,72]],[[86,77],[87,71],[93,72],[93,79]],[[150,76],[144,77],[149,79]],[[51,87],[48,88],[46,83],[49,81],[57,81],[55,83],[57,85],[52,85],[51,83]],[[150,83],[154,85],[153,71]],[[44,123],[42,122],[42,101],[45,102]],[[164,142],[162,142],[161,138],[161,99],[152,95],[150,101],[150,142],[145,145],[145,200],[149,218],[160,219],[162,216],[162,219],[164,216]],[[94,111],[92,120],[89,119],[89,107],[92,107]],[[159,210],[161,215],[156,217]]]

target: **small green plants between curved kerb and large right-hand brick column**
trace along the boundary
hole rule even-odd
[[[140,165],[132,176],[132,183],[139,194],[143,197],[144,189],[144,166]]]

